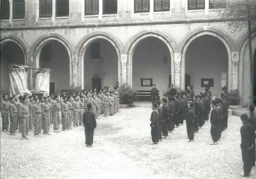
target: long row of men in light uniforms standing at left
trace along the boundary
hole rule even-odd
[[[107,89],[92,92],[71,93],[69,96],[65,92],[56,96],[39,97],[17,96],[9,98],[5,94],[0,105],[2,115],[2,131],[10,131],[10,135],[16,135],[16,129],[22,133],[22,139],[29,139],[28,132],[34,131],[34,136],[38,137],[43,129],[44,135],[50,135],[49,129],[53,123],[54,132],[58,133],[60,124],[62,130],[72,129],[83,125],[83,113],[87,110],[87,104],[91,103],[93,112],[97,119],[100,115],[109,117],[119,112],[119,92],[118,87],[114,91]],[[8,130],[10,124],[10,130]]]

